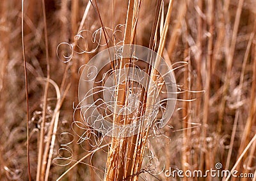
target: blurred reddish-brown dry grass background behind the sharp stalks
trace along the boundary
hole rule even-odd
[[[49,51],[49,76],[57,84],[63,98],[54,158],[60,148],[61,133],[73,132],[71,123],[73,103],[76,105],[78,101],[78,69],[94,54],[106,48],[100,47],[92,54],[74,54],[69,63],[61,62],[56,56],[59,43],[74,42],[87,4],[88,1],[81,0],[45,0],[49,46],[46,50],[42,2],[28,0],[24,3],[24,41],[29,82],[29,150],[33,180],[36,179],[43,113],[45,111],[45,143],[57,102],[56,92],[50,84],[47,105],[44,104],[45,82],[36,79],[47,77],[46,51]],[[104,26],[113,29],[118,24],[125,24],[128,1],[97,1],[97,4]],[[179,98],[196,100],[177,103],[177,111],[169,123],[173,129],[166,129],[170,139],[163,139],[161,143],[152,140],[152,148],[157,150],[157,159],[166,168],[177,166],[183,170],[205,170],[215,168],[215,164],[221,162],[223,168],[232,169],[255,136],[255,6],[253,0],[173,2],[163,57],[172,63],[189,63],[175,70],[180,89],[192,90],[181,93]],[[164,1],[164,15],[167,7],[168,1]],[[141,3],[135,40],[138,45],[148,47],[155,8],[155,1],[144,0]],[[83,29],[93,32],[100,27],[97,12],[90,8]],[[0,180],[28,180],[20,1],[1,2],[0,38]],[[88,47],[93,46],[92,42],[88,42]],[[205,90],[205,93],[196,92],[201,90]],[[79,117],[79,114],[76,116]],[[90,150],[90,145],[87,146]],[[255,146],[256,141],[250,145],[236,167],[239,173],[255,172]],[[71,147],[72,159],[78,160],[84,155],[85,151],[80,145],[74,142]],[[106,164],[106,154],[102,153],[106,151],[103,149],[92,159],[84,161],[103,170],[99,173],[101,179]],[[67,168],[51,164],[48,179],[56,180]],[[95,171],[97,169],[93,171],[90,166],[78,164],[68,173],[66,180],[100,180]],[[150,175],[147,178],[156,179]],[[171,179],[163,175],[159,178]],[[220,180],[204,178],[211,179]]]

